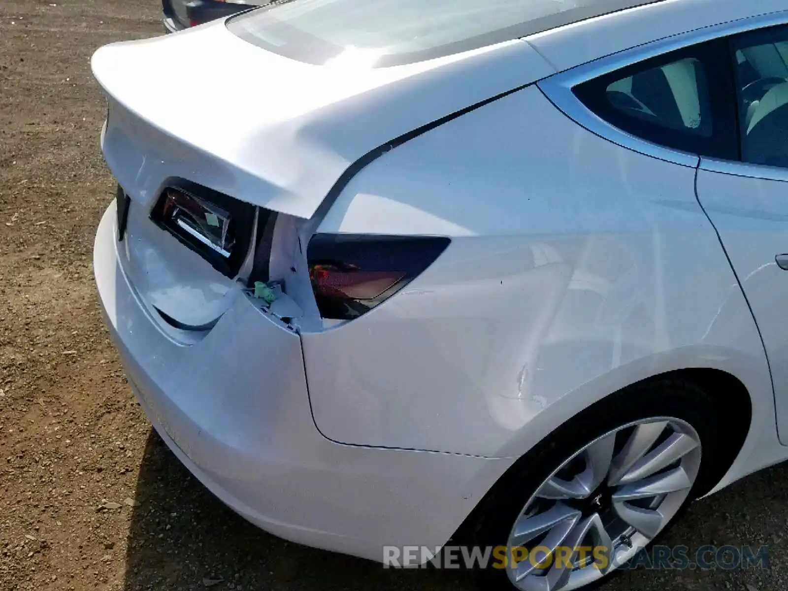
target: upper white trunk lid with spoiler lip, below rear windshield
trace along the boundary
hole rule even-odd
[[[92,69],[106,162],[137,203],[185,178],[303,218],[365,154],[554,73],[521,40],[390,68],[310,65],[222,21],[104,46]]]

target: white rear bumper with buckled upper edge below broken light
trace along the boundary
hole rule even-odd
[[[300,338],[245,297],[199,343],[165,335],[128,283],[114,203],[95,240],[106,323],[139,402],[234,511],[305,545],[381,560],[443,545],[510,460],[336,444],[314,426]]]

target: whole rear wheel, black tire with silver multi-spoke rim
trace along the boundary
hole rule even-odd
[[[716,459],[716,415],[688,382],[628,388],[519,460],[474,517],[474,543],[507,548],[521,591],[588,589],[645,548]]]

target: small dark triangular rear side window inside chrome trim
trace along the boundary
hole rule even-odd
[[[722,54],[716,53],[718,50]],[[675,150],[736,158],[724,44],[704,43],[579,85],[574,94],[611,125]]]

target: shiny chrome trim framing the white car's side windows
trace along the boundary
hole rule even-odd
[[[719,39],[720,37],[729,37],[730,35],[738,35],[739,33],[759,28],[773,27],[779,24],[788,24],[788,10],[759,14],[738,20],[729,20],[709,27],[693,29],[692,31],[672,35],[664,39],[657,39],[656,41],[634,46],[630,49],[619,51],[617,54],[611,54],[604,58],[589,61],[585,64],[575,66],[572,69],[559,72],[544,80],[540,80],[537,82],[537,86],[553,105],[572,121],[588,129],[589,132],[640,154],[645,154],[652,158],[659,158],[660,160],[672,162],[674,164],[688,166],[690,168],[697,168],[701,160],[698,154],[690,154],[689,152],[660,146],[660,144],[652,143],[647,139],[641,139],[628,132],[624,132],[602,119],[602,117],[599,117],[596,113],[593,113],[592,110],[586,107],[574,95],[572,88],[578,84],[598,78],[599,76],[604,76],[610,72],[626,68],[628,65],[634,65],[650,58],[656,58],[660,55],[670,53],[671,51],[697,45],[698,43],[706,43],[714,39]],[[705,158],[704,160],[705,162],[712,162],[713,159]],[[713,162],[724,162],[728,169],[734,169],[736,166],[743,166],[745,169],[751,169],[753,166],[757,166],[759,169],[772,168],[733,161],[713,160]],[[755,175],[741,174],[740,176]]]

